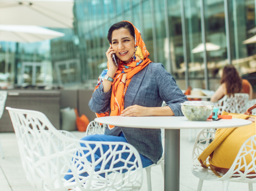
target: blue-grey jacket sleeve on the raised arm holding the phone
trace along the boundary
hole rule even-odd
[[[112,88],[109,92],[103,92],[103,85],[101,83],[89,101],[90,109],[95,113],[108,112],[110,110],[111,91]]]

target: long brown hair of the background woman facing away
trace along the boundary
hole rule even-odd
[[[226,84],[228,96],[242,91],[242,78],[233,65],[226,65],[224,67],[220,83]]]

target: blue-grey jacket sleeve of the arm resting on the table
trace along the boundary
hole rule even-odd
[[[156,63],[153,65],[154,75],[160,97],[165,101],[175,116],[183,116],[180,103],[187,101],[187,96],[182,93],[174,77],[164,69],[164,65]]]

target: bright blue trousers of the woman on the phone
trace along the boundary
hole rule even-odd
[[[99,134],[96,134],[96,135],[88,135],[88,136],[83,137],[81,140],[84,140],[84,141],[126,142],[126,143],[128,143],[128,141],[126,140],[126,138],[124,138],[123,132],[121,132],[121,133],[119,134],[119,136],[110,136],[110,135],[103,135],[103,134],[101,134],[101,135],[99,135]],[[84,144],[82,144],[82,143],[80,143],[80,145],[83,146],[83,147],[86,147],[86,146],[85,146]],[[94,144],[90,144],[90,146],[91,146],[92,149],[95,147]],[[108,151],[109,146],[108,146],[108,145],[102,145],[102,148],[103,148],[103,152],[105,153],[105,152]],[[122,146],[118,146],[118,149],[117,149],[117,150],[122,150]],[[84,153],[87,153],[87,152],[88,152],[88,151],[84,151]],[[121,156],[121,157],[122,157],[123,159],[126,159],[128,156],[129,156],[129,153],[122,153],[122,156]],[[98,158],[100,158],[100,150],[99,150],[99,149],[95,152],[95,160],[97,160]],[[149,158],[147,158],[146,156],[144,156],[144,155],[142,155],[142,154],[140,154],[140,158],[141,158],[141,161],[142,161],[142,166],[143,166],[143,168],[148,167],[148,166],[150,166],[150,165],[153,164],[153,161],[152,161],[152,160],[150,160]],[[92,161],[90,156],[87,157],[87,160],[90,161],[90,162]],[[130,161],[134,161],[134,160],[135,160],[135,156],[132,155]],[[105,169],[109,169],[109,166],[110,166],[110,164],[111,164],[111,161],[112,161],[112,160],[109,160],[109,162],[108,162],[108,163],[106,164],[106,166],[105,166]],[[99,170],[100,170],[101,164],[102,164],[102,163],[99,163],[99,164],[95,167],[95,171],[99,171]],[[122,166],[124,166],[124,163],[123,163],[123,162],[118,162],[118,163],[116,163],[116,164],[114,165],[114,167],[122,167]],[[71,172],[71,171],[68,170],[68,172]],[[126,171],[123,170],[123,173],[125,173],[125,172],[126,172]],[[82,173],[82,174],[80,174],[80,175],[82,175],[82,176],[88,176],[88,173],[85,172],[85,173]],[[105,177],[104,174],[102,174],[101,176],[102,176],[102,177]],[[65,178],[66,180],[68,180],[68,179],[70,179],[70,178],[72,178],[72,177],[73,177],[73,175],[65,175],[65,176],[64,176],[64,178]]]

